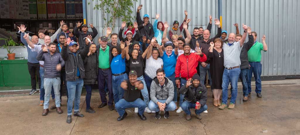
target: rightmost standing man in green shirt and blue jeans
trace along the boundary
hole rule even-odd
[[[251,95],[251,77],[252,77],[252,73],[254,75],[255,78],[255,92],[256,92],[256,96],[258,98],[261,98],[261,91],[262,91],[262,84],[261,84],[261,80],[260,80],[260,76],[262,74],[262,64],[260,63],[261,60],[261,50],[263,51],[267,51],[268,50],[268,46],[265,43],[265,35],[262,36],[262,43],[258,42],[256,40],[257,38],[257,33],[256,32],[251,32],[254,38],[254,44],[253,46],[250,48],[250,50],[248,51],[248,60],[249,60],[249,65],[250,65],[250,69],[247,70],[247,74],[248,74],[248,79],[247,79],[247,84],[248,84],[248,97],[250,97]]]

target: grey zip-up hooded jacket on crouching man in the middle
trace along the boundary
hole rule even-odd
[[[166,100],[166,104],[169,104],[171,101],[173,101],[174,98],[174,85],[171,80],[169,80],[167,77],[165,77],[165,83],[163,88],[161,88],[161,85],[158,82],[157,77],[153,78],[153,81],[151,83],[150,87],[150,97],[151,100],[157,104],[158,100]]]

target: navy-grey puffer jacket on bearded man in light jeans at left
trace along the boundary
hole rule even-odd
[[[37,60],[44,61],[44,78],[56,78],[60,77],[60,71],[56,70],[56,65],[61,64],[61,67],[64,67],[64,60],[61,57],[61,54],[55,52],[53,55],[48,52],[43,52],[41,49],[38,52]]]

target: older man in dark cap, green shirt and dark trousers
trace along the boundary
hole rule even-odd
[[[101,98],[101,104],[98,108],[102,108],[107,105],[106,92],[104,91],[105,82],[108,88],[108,108],[114,110],[113,107],[113,85],[112,85],[112,71],[110,69],[110,62],[112,59],[111,47],[107,45],[107,37],[102,36],[99,38],[100,45],[97,46],[97,58],[98,58],[98,88]]]

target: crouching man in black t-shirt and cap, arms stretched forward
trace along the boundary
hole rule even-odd
[[[126,108],[134,107],[139,108],[137,115],[141,118],[141,120],[146,120],[146,117],[144,116],[146,104],[142,99],[140,99],[140,93],[144,88],[144,84],[142,81],[137,80],[137,72],[135,70],[131,70],[129,72],[129,79],[124,80],[121,83],[121,88],[124,89],[124,98],[115,104],[116,110],[120,115],[117,120],[122,121],[127,116],[125,111]]]

